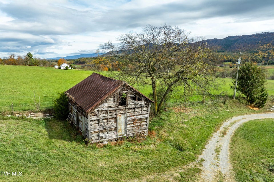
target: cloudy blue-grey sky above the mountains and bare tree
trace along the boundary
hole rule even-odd
[[[274,32],[273,9],[273,0],[0,0],[0,57],[95,53],[165,23],[204,39]]]

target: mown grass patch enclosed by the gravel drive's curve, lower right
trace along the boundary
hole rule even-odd
[[[274,120],[253,120],[237,129],[231,140],[237,181],[274,181]]]

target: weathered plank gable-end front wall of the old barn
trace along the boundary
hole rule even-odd
[[[140,98],[137,100],[137,96],[125,88],[121,89],[120,93],[127,94],[126,106],[118,106],[118,94],[116,93],[89,113],[91,142],[117,140],[120,137],[133,136],[137,133],[148,134],[150,102],[145,102]],[[131,100],[130,96],[135,96],[136,100]],[[124,126],[124,130],[117,131],[117,124],[120,125],[119,122],[117,123],[117,117],[121,115],[124,115],[121,117],[124,120],[121,125],[122,130]]]

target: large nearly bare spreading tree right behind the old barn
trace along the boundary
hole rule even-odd
[[[130,32],[117,40],[119,44],[100,46],[102,56],[116,63],[120,78],[152,86],[155,114],[176,86],[187,89],[195,85],[205,96],[213,85],[211,50],[181,28],[149,25],[141,33]]]

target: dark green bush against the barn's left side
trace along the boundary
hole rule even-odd
[[[65,120],[68,117],[68,96],[65,92],[58,93],[59,97],[54,102],[55,117]]]

